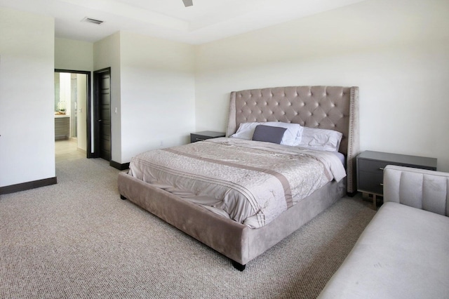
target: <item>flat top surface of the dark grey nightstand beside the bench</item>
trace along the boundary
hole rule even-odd
[[[401,164],[421,165],[436,169],[436,158],[410,156],[407,154],[392,154],[389,152],[365,151],[357,156],[358,159],[370,159],[377,161],[390,161]]]

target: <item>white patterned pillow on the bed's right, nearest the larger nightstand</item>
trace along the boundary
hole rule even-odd
[[[324,128],[307,128],[302,130],[302,138],[297,146],[307,147],[311,150],[326,150],[338,152],[343,134]]]

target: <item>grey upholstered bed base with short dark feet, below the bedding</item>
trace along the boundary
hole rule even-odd
[[[238,263],[234,263],[234,267],[243,270],[250,260],[279,243],[343,197],[346,193],[346,180],[328,182],[268,225],[257,229],[210,212],[127,173],[119,173],[119,192],[122,199],[129,199],[222,253]]]

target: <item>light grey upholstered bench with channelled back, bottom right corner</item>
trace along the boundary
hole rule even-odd
[[[319,298],[449,298],[449,173],[387,166],[384,204]]]

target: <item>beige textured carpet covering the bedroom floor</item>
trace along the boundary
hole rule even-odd
[[[58,184],[0,196],[0,298],[316,298],[375,211],[344,198],[248,263],[119,199],[101,159]]]

